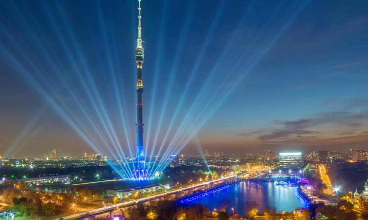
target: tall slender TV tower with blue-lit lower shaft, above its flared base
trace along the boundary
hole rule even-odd
[[[143,93],[143,80],[142,80],[142,64],[144,59],[144,49],[142,47],[141,39],[141,0],[138,0],[138,39],[137,47],[135,48],[135,62],[137,63],[137,155],[136,161],[145,161],[143,153],[143,103],[142,103],[142,93]]]

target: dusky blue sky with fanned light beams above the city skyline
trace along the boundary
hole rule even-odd
[[[135,152],[137,23],[1,0],[0,155]],[[142,0],[142,39],[148,155],[368,150],[367,0]]]

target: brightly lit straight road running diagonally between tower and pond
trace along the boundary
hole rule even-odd
[[[101,207],[101,208],[91,209],[91,210],[88,210],[86,212],[80,212],[80,213],[76,213],[76,214],[73,214],[73,215],[70,215],[70,216],[62,217],[62,219],[63,220],[77,219],[77,218],[81,218],[83,216],[87,216],[87,215],[91,215],[91,214],[96,214],[96,213],[99,213],[99,212],[105,212],[107,210],[113,210],[113,209],[116,209],[116,208],[119,208],[119,207],[129,206],[129,205],[132,205],[132,204],[135,204],[135,203],[138,203],[138,202],[149,201],[151,199],[163,197],[163,196],[166,196],[166,195],[169,195],[169,194],[173,194],[173,193],[177,193],[177,192],[180,192],[180,191],[183,191],[183,190],[188,190],[188,189],[192,189],[192,188],[195,188],[195,187],[198,187],[198,186],[203,186],[203,185],[207,185],[207,184],[210,184],[210,183],[218,182],[218,181],[221,181],[221,180],[233,178],[234,176],[235,175],[226,176],[226,177],[223,177],[223,178],[219,178],[219,179],[215,179],[215,180],[211,180],[211,181],[207,181],[207,182],[195,184],[195,185],[184,187],[184,188],[173,189],[171,191],[167,191],[167,192],[160,193],[160,194],[153,195],[153,196],[149,196],[149,197],[137,198],[137,199],[131,200],[131,201],[126,201],[126,202],[121,202],[121,203],[117,203],[117,204],[113,204],[113,205],[108,205],[108,206]],[[60,220],[60,219],[55,219],[55,220]]]

